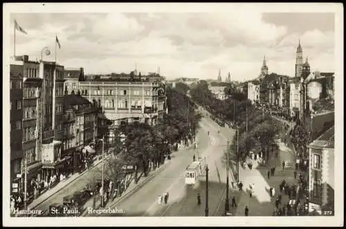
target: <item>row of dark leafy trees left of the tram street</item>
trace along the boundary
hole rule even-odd
[[[162,165],[165,156],[176,149],[176,143],[183,143],[187,138],[194,138],[199,128],[201,114],[195,111],[194,103],[187,95],[174,89],[167,88],[167,109],[163,119],[154,126],[132,122],[121,125],[117,136],[123,136],[116,141],[114,155],[109,159],[109,176],[118,180],[124,165],[135,168],[135,182],[138,172],[147,176],[149,166]],[[122,152],[118,154],[118,152]]]

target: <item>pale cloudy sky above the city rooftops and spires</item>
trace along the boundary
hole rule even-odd
[[[251,80],[264,55],[269,73],[294,76],[300,44],[311,71],[334,72],[334,13],[126,12],[16,13],[27,35],[16,32],[16,55],[39,59],[44,46],[66,68],[86,74],[156,72],[167,79],[197,77]],[[11,47],[14,30],[10,30]],[[13,48],[11,49],[13,50]]]

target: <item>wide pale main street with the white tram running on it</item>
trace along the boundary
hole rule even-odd
[[[226,137],[232,138],[228,128],[219,127],[210,118],[203,118],[199,131],[199,156],[206,157],[209,171],[209,214],[215,214],[224,194],[226,183],[225,167],[221,164],[221,157],[226,149]],[[207,131],[210,131],[208,136]],[[205,178],[201,178],[199,185],[187,187],[183,173],[185,167],[192,162],[193,154],[190,149],[181,152],[172,158],[170,165],[140,190],[128,199],[116,203],[111,208],[121,208],[124,216],[204,216],[205,208]],[[170,197],[167,205],[158,205],[157,199],[163,192]],[[197,205],[197,193],[201,194],[201,205]],[[224,206],[223,206],[224,208]]]

